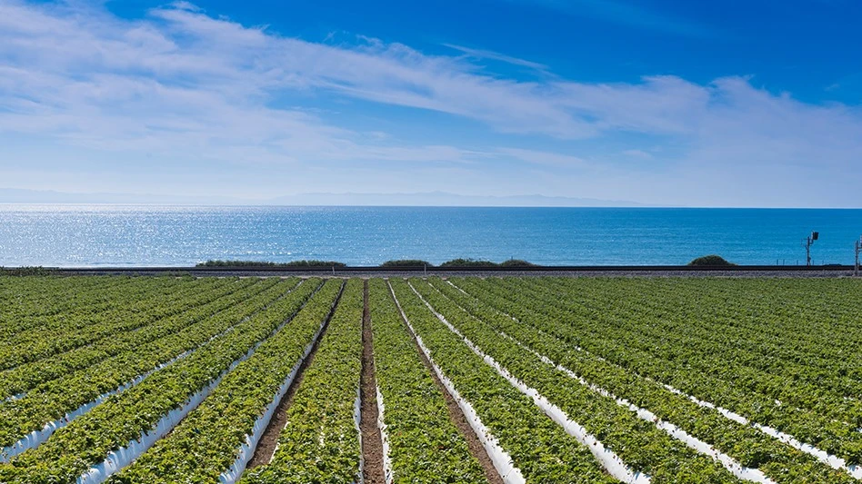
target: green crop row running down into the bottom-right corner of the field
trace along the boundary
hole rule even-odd
[[[454,285],[432,280],[432,284],[446,297],[497,331],[572,370],[590,384],[615,394],[617,398],[650,410],[658,419],[666,420],[707,442],[741,466],[760,469],[776,482],[854,482],[847,472],[832,469],[762,432],[727,420],[717,410],[701,407],[667,390],[655,380],[637,377],[631,371],[588,351],[578,350],[569,342],[571,330],[539,311],[531,311],[525,303],[494,295],[487,287],[474,281],[453,282]],[[456,286],[470,294],[456,289]],[[533,304],[533,307],[539,306],[539,303]],[[517,321],[512,314],[517,314]]]

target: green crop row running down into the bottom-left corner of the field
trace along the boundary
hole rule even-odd
[[[305,305],[319,286],[304,282],[285,298],[257,311],[183,360],[155,371],[129,390],[116,394],[85,415],[73,420],[36,449],[0,465],[0,481],[48,483],[75,481],[99,466],[115,450],[141,440],[172,410],[208,389],[231,366],[254,351],[274,331]],[[329,284],[332,288],[338,282]],[[336,291],[321,291],[316,297],[334,301]],[[239,310],[242,306],[236,306]],[[233,311],[229,310],[229,311]]]

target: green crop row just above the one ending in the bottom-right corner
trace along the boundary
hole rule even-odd
[[[495,283],[488,283],[494,289]],[[685,346],[668,348],[654,339],[644,336],[647,326],[657,324],[646,315],[629,318],[614,318],[613,315],[592,314],[587,316],[577,310],[577,297],[570,296],[568,301],[559,295],[531,291],[526,282],[510,281],[509,287],[497,287],[517,308],[534,308],[571,328],[571,342],[613,361],[641,376],[647,376],[707,400],[726,409],[733,410],[763,425],[787,432],[798,440],[815,445],[828,453],[846,459],[850,465],[862,461],[862,433],[857,431],[857,417],[848,415],[846,419],[836,419],[838,410],[829,411],[820,402],[819,411],[806,410],[787,402],[776,400],[774,395],[757,392],[753,380],[743,378],[719,378],[732,357],[721,355],[707,360],[697,358]],[[579,296],[582,297],[582,296]],[[606,295],[608,297],[608,295]],[[515,309],[513,311],[519,311]],[[666,317],[676,317],[668,312]],[[689,324],[694,327],[694,324]],[[681,328],[679,331],[686,331]],[[697,378],[692,378],[697,375]],[[787,385],[786,394],[793,393],[793,385]],[[807,395],[817,400],[815,395],[801,392],[794,400],[803,400]]]

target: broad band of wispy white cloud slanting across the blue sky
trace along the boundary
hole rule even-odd
[[[771,186],[780,172],[786,186],[802,186],[827,167],[828,173],[845,169],[862,176],[858,107],[803,103],[746,76],[708,84],[667,75],[616,84],[555,76],[525,81],[471,61],[546,66],[452,46],[459,54],[429,55],[375,39],[308,42],[185,3],[126,20],[92,4],[5,1],[0,141],[25,134],[91,150],[231,163],[442,163],[446,173],[458,170],[465,185],[463,173],[473,170],[481,180],[504,159],[556,170],[583,168],[585,160],[610,166],[627,150],[642,164],[660,165],[663,178],[643,183],[641,173],[616,173],[577,186],[535,178],[528,190],[561,183],[556,193],[592,190],[568,194],[601,198],[598,187],[628,187],[631,193],[612,196],[658,203],[679,203],[669,198],[679,196],[708,204],[707,195],[718,195],[668,189],[706,178],[729,183],[744,177],[751,186]],[[326,111],[285,107],[285,96],[433,111],[467,120],[486,136],[408,143],[393,133],[346,125]],[[506,133],[505,142],[498,133]],[[629,134],[673,149],[649,150],[653,159],[646,163],[638,145],[609,141]],[[547,148],[535,149],[545,142]],[[836,183],[856,190],[851,179]],[[747,197],[749,204],[791,200],[782,187],[752,189]]]

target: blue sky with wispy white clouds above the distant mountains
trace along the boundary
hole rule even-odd
[[[862,2],[0,0],[0,188],[862,207]]]

